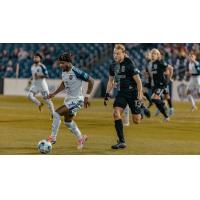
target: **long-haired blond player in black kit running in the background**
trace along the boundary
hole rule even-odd
[[[155,103],[159,111],[164,115],[164,122],[169,121],[169,116],[166,113],[165,103],[161,96],[173,76],[173,67],[168,65],[161,59],[161,54],[158,49],[151,50],[152,59],[152,77],[154,82],[152,102]]]

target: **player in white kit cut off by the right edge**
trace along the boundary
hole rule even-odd
[[[196,60],[196,55],[194,52],[191,52],[189,54],[189,69],[188,69],[188,75],[190,76],[190,82],[187,90],[188,99],[192,104],[191,111],[197,110],[197,106],[194,100],[194,97],[192,96],[192,91],[194,89],[197,90],[198,96],[200,97],[200,64]]]

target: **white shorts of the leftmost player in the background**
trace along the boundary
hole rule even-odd
[[[41,93],[43,97],[47,97],[49,95],[49,88],[46,82],[41,84],[32,84],[29,92],[33,92],[34,94]]]

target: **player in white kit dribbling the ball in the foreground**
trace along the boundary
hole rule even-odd
[[[56,94],[64,90],[67,94],[64,99],[64,105],[53,113],[52,133],[48,137],[48,141],[52,144],[56,143],[61,116],[64,116],[64,124],[77,138],[77,149],[82,149],[87,136],[82,135],[73,119],[83,106],[85,108],[89,106],[89,97],[93,89],[94,80],[87,73],[72,65],[72,55],[70,52],[61,55],[58,58],[58,62],[62,69],[62,82],[55,92],[49,94],[48,99],[53,98]],[[83,95],[83,81],[88,82],[85,97]]]

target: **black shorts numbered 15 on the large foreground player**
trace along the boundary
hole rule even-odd
[[[120,107],[125,109],[129,105],[132,114],[141,114],[141,101],[138,101],[134,97],[126,97],[122,95],[117,95],[113,104],[113,107]]]

